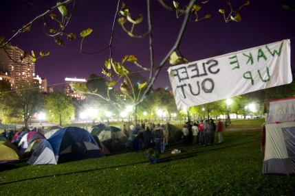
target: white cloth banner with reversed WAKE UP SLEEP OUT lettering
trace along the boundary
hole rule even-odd
[[[189,108],[292,82],[290,40],[171,66],[177,108]]]

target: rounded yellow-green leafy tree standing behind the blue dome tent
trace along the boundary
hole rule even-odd
[[[53,120],[61,126],[74,117],[75,108],[70,99],[71,97],[67,97],[62,91],[55,91],[46,97],[47,114],[53,115]]]

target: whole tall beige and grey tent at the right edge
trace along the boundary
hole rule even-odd
[[[263,127],[262,173],[295,173],[295,97],[270,101]]]

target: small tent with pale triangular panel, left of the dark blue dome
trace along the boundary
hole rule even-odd
[[[30,164],[56,164],[54,152],[50,143],[43,140],[34,140],[31,143],[32,155],[30,156],[28,163]]]

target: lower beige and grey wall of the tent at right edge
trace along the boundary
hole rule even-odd
[[[265,124],[262,173],[295,173],[295,122]]]

